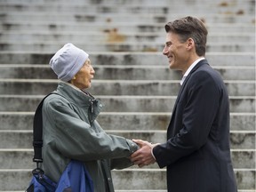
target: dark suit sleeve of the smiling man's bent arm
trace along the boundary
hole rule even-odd
[[[178,116],[175,118],[181,118],[180,132],[153,148],[156,162],[161,168],[204,146],[218,113],[220,90],[212,76],[204,71],[197,73],[190,77],[186,86],[175,112],[175,116]]]

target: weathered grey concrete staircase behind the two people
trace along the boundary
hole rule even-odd
[[[90,92],[106,107],[109,133],[164,142],[180,73],[162,55],[164,24],[194,15],[209,29],[206,58],[230,95],[230,143],[239,192],[255,190],[255,1],[0,0],[0,191],[31,178],[32,122],[56,88],[52,54],[73,43],[90,53]],[[156,164],[113,171],[117,192],[164,192]]]

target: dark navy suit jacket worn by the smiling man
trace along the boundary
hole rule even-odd
[[[167,166],[170,192],[236,192],[229,148],[229,100],[219,73],[207,60],[180,87],[167,142],[153,149]]]

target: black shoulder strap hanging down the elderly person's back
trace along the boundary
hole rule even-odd
[[[44,97],[48,97],[50,94],[53,92],[49,93]],[[43,117],[42,117],[42,107],[44,104],[44,99],[41,100],[39,105],[36,108],[36,113],[34,116],[34,124],[33,124],[33,147],[34,147],[34,158],[33,161],[38,163],[43,162],[42,158],[42,147],[43,147]]]

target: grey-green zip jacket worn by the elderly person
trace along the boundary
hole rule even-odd
[[[138,146],[104,132],[95,120],[103,107],[100,100],[63,82],[55,92],[43,106],[45,174],[57,182],[70,159],[76,159],[84,162],[95,192],[114,192],[110,170],[131,166],[128,157]]]

